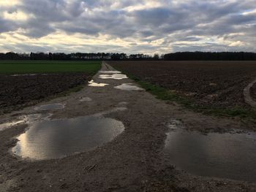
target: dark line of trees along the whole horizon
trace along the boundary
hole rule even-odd
[[[165,61],[256,61],[256,53],[246,52],[178,52],[167,54],[126,53],[0,53],[0,60],[165,60]]]

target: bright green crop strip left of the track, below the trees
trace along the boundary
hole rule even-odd
[[[0,74],[97,72],[97,61],[0,61]]]

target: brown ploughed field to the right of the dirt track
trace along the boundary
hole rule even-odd
[[[243,90],[256,78],[255,61],[112,61],[110,64],[154,92],[165,88],[169,96],[195,110],[229,115],[248,115]],[[146,82],[150,83],[146,84]],[[157,90],[156,90],[157,91]],[[160,91],[161,92],[161,91]],[[256,87],[252,88],[255,98]],[[255,114],[251,112],[250,114]]]

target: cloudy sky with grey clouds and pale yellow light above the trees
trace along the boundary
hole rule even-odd
[[[256,0],[0,0],[0,52],[256,52]]]

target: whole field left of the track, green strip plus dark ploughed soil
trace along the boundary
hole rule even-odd
[[[0,113],[78,90],[100,67],[84,61],[1,61]]]

